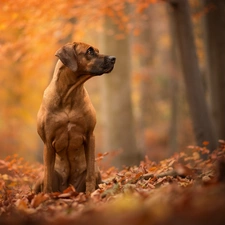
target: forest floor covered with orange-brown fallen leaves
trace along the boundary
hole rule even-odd
[[[225,142],[177,153],[159,163],[101,171],[104,183],[87,196],[35,195],[42,166],[18,156],[0,160],[0,224],[225,224]],[[202,159],[204,156],[204,160]]]

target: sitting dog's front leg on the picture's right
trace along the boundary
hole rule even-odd
[[[85,145],[85,157],[87,164],[86,175],[86,193],[91,193],[95,190],[95,137],[91,134]]]

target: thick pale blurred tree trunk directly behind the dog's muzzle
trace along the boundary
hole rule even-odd
[[[113,165],[134,165],[140,162],[136,147],[131,102],[131,57],[128,35],[116,39],[121,32],[111,18],[106,18],[102,44],[106,54],[116,56],[113,72],[103,76],[103,126],[105,149],[122,150]]]

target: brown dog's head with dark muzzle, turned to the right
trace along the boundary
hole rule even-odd
[[[113,70],[116,57],[99,54],[99,50],[81,42],[68,43],[55,54],[61,62],[81,75],[102,75]]]

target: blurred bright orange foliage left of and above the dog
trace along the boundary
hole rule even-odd
[[[56,50],[71,41],[94,44],[102,32],[105,16],[121,24],[117,38],[122,38],[124,24],[137,33],[131,17],[141,14],[154,2],[18,0],[15,4],[13,0],[0,1],[2,157],[19,153],[34,160],[34,152],[39,148],[36,114],[52,74]],[[132,4],[135,13],[126,13],[126,4]]]

